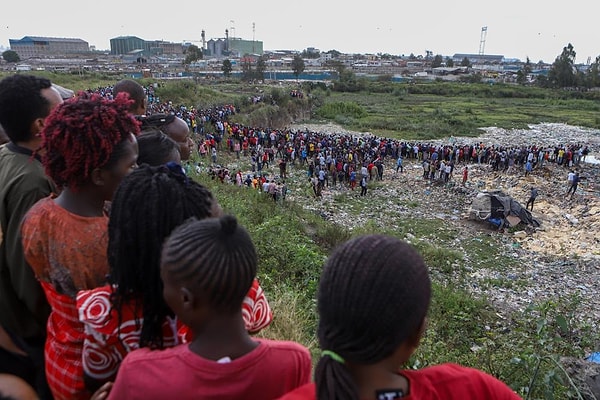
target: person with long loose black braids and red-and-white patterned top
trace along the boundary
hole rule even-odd
[[[108,224],[110,284],[77,295],[86,331],[83,369],[90,390],[113,381],[127,353],[173,347],[190,336],[161,295],[161,247],[189,218],[221,213],[212,193],[185,176],[179,165],[142,165],[123,180]],[[271,323],[271,309],[257,279],[246,290],[240,309],[249,332]]]

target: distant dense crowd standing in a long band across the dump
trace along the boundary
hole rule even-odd
[[[369,182],[384,179],[387,170],[404,173],[407,163],[419,165],[423,179],[431,182],[448,183],[458,170],[462,185],[467,184],[470,165],[485,165],[495,173],[527,176],[544,165],[554,164],[564,167],[565,171],[571,170],[571,178],[590,152],[589,147],[581,143],[554,146],[500,146],[483,142],[437,144],[372,135],[252,128],[229,123],[226,118],[221,123],[225,148],[218,147],[210,135],[195,138],[201,160],[213,154],[209,160],[213,167],[216,165],[209,169],[213,176],[222,182],[238,185],[244,182],[261,190],[265,179],[276,183],[285,181],[289,168],[305,168],[315,198],[322,197],[325,188],[354,190],[359,187],[360,195],[364,196]],[[229,151],[237,160],[247,163],[246,179],[237,179],[226,165],[217,164],[217,152],[222,151]],[[274,173],[267,171],[269,166],[275,166]]]

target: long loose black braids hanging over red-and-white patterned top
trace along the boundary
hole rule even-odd
[[[112,303],[119,315],[130,301],[141,308],[140,347],[162,348],[162,324],[172,315],[162,297],[163,241],[190,217],[211,216],[214,203],[212,193],[181,167],[143,165],[119,185],[108,224],[109,280],[116,285]]]

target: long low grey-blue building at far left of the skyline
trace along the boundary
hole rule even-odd
[[[82,39],[25,36],[23,39],[9,39],[10,49],[21,59],[47,56],[64,56],[90,51],[88,42]]]

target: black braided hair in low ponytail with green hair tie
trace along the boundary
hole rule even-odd
[[[346,362],[373,364],[418,332],[429,308],[431,282],[409,244],[365,235],[337,247],[327,260],[317,306],[321,349]],[[317,398],[358,399],[347,367],[325,355],[315,369]]]

